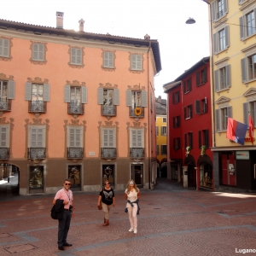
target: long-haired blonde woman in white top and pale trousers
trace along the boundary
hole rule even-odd
[[[140,198],[140,191],[136,183],[131,179],[125,189],[125,199],[127,200],[126,208],[128,209],[131,228],[129,232],[137,234],[137,202]]]

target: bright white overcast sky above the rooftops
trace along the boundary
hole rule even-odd
[[[208,6],[202,0],[8,0],[0,19],[38,26],[56,26],[56,11],[64,12],[64,28],[84,32],[144,38],[160,44],[162,70],[154,78],[155,96],[166,99],[163,84],[210,55]],[[195,24],[185,22],[192,17]]]

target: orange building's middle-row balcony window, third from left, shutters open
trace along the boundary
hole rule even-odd
[[[67,113],[84,114],[84,105],[87,103],[87,88],[84,86],[65,85],[64,102],[67,102]]]

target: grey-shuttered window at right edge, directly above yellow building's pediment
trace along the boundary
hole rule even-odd
[[[243,83],[256,79],[256,54],[241,59],[241,79]]]

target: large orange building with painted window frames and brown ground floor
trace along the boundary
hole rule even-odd
[[[156,173],[157,40],[0,20],[0,164],[15,166],[20,195],[96,191]]]

